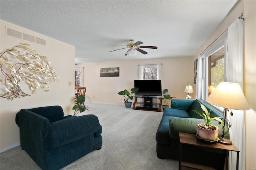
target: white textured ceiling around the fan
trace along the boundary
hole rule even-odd
[[[133,59],[188,57],[236,2],[0,0],[0,19],[74,45],[76,63],[130,60],[127,49],[109,52],[130,39],[158,47]]]

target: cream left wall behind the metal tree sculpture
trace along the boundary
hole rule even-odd
[[[24,32],[29,35],[37,36],[46,40],[46,46],[35,43],[25,42],[16,38],[5,36],[5,27]],[[29,109],[34,107],[60,105],[64,113],[72,113],[74,105],[74,55],[75,47],[50,37],[32,32],[20,26],[16,26],[9,22],[0,20],[0,51],[10,49],[15,45],[29,43],[30,47],[35,49],[38,54],[49,57],[52,62],[51,66],[56,70],[60,77],[59,82],[49,83],[49,92],[44,92],[39,88],[37,94],[32,94],[27,97],[20,97],[13,101],[0,99],[0,148],[1,152],[20,142],[19,128],[15,123],[15,116],[20,109]],[[68,81],[72,81],[72,86],[68,86]],[[0,83],[1,94],[5,91],[5,85]],[[31,94],[29,86],[24,84],[21,87],[24,91]]]

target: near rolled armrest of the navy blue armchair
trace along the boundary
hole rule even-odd
[[[84,115],[56,121],[44,129],[45,145],[50,149],[57,148],[94,134],[99,129],[100,123],[95,115]]]

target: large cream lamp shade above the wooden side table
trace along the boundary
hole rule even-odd
[[[221,82],[209,95],[206,101],[213,105],[228,109],[250,109],[238,83]]]

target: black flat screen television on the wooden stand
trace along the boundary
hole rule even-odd
[[[134,87],[139,88],[136,96],[162,96],[161,80],[134,80]]]

